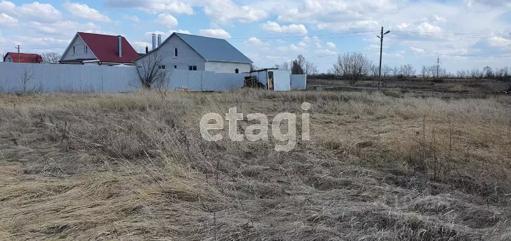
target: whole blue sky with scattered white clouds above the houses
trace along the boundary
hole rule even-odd
[[[63,52],[76,32],[122,35],[138,52],[151,34],[226,39],[258,67],[303,55],[319,72],[337,55],[449,72],[511,66],[511,1],[504,0],[1,0],[0,52]]]

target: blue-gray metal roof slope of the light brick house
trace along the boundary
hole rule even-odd
[[[174,33],[207,61],[253,63],[225,39]]]

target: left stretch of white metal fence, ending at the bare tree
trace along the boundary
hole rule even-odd
[[[134,68],[0,63],[0,92],[128,92],[139,87]]]

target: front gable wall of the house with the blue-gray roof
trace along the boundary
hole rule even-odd
[[[147,58],[154,58],[154,55],[163,56],[166,69],[174,68],[177,65],[178,70],[188,70],[188,66],[195,65],[197,70],[205,70],[204,59],[193,48],[188,46],[177,36],[171,36],[171,39],[162,43],[156,50],[148,53],[136,62],[148,61]],[[174,58],[174,48],[177,48],[177,58]],[[138,64],[140,66],[140,64]]]

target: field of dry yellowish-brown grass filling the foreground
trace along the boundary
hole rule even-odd
[[[290,152],[199,133],[304,101]],[[510,204],[510,96],[0,96],[0,240],[511,240]]]

